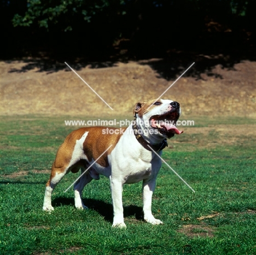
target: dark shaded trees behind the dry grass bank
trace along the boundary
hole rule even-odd
[[[255,0],[2,0],[0,22],[8,54],[64,51],[66,41],[86,56],[143,57],[252,45],[255,9]]]

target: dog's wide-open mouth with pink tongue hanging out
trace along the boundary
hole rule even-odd
[[[161,134],[171,138],[174,134],[183,133],[183,131],[179,131],[179,129],[176,127],[178,118],[178,112],[173,111],[167,112],[163,115],[154,115],[149,119],[149,121],[152,128],[158,129]]]

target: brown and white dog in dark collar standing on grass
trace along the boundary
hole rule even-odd
[[[162,224],[154,218],[151,211],[156,176],[161,167],[161,159],[155,152],[161,155],[161,150],[167,146],[166,139],[182,133],[175,126],[180,114],[181,108],[177,102],[150,100],[135,105],[135,123],[127,128],[108,128],[109,131],[113,129],[108,133],[106,127],[84,127],[73,131],[57,151],[50,179],[46,183],[43,210],[54,210],[51,206],[51,194],[65,174],[69,171],[77,173],[79,169],[84,173],[112,145],[74,184],[75,207],[87,209],[82,201],[83,188],[92,179],[100,179],[102,174],[110,180],[113,227],[125,227],[123,185],[143,181],[144,220],[152,224]]]

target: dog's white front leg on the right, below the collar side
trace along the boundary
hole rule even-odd
[[[151,211],[152,195],[155,190],[155,179],[149,181],[143,180],[143,212],[144,220],[153,225],[162,224],[160,220],[157,220]]]

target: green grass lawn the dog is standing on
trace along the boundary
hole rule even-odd
[[[54,212],[42,210],[48,170],[57,148],[75,127],[68,117],[0,117],[0,254],[255,254],[256,137],[218,132],[184,133],[169,141],[162,157],[195,193],[162,165],[153,195],[153,214],[141,219],[141,183],[125,185],[126,229],[112,228],[109,181],[101,177],[84,190],[89,210],[74,208],[69,174],[53,194]],[[77,118],[81,119],[81,118]],[[97,119],[97,118],[96,118]],[[218,124],[254,124],[223,118]],[[215,120],[216,121],[216,120]],[[197,127],[214,126],[198,118]],[[213,146],[214,145],[214,146]],[[40,173],[40,171],[42,171]],[[215,217],[197,220],[200,216]],[[191,233],[181,232],[194,225]],[[201,226],[200,228],[198,226]],[[204,230],[207,228],[207,230]],[[212,229],[213,236],[206,236]]]

